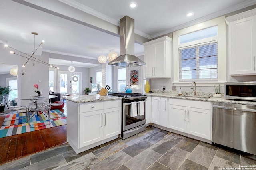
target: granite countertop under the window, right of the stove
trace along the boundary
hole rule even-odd
[[[196,100],[196,101],[222,102],[222,103],[233,103],[233,104],[256,106],[256,102],[253,102],[253,101],[230,100],[224,97],[216,98],[209,95],[200,95],[200,96],[194,97],[193,95],[178,95],[177,93],[145,93],[145,94],[148,96],[156,96],[156,97],[170,97],[175,99],[188,99],[188,100]]]

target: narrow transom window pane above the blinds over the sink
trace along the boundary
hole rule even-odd
[[[179,36],[180,44],[217,36],[218,26],[213,26],[189,34]]]

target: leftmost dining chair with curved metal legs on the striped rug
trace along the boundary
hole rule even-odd
[[[11,106],[10,105],[10,101],[9,101],[8,98],[9,97],[6,96],[6,95],[3,96],[3,102],[5,103],[5,105],[8,108],[8,110],[10,110],[10,111],[22,111],[23,110],[22,114],[26,110],[26,115],[25,115],[25,117],[22,116],[21,118],[18,118],[18,119],[12,119],[12,120],[4,121],[2,126],[10,126],[10,125],[17,125],[17,124],[27,123],[28,122],[28,107],[27,106]],[[7,114],[11,114],[11,113],[12,112],[7,113]],[[7,122],[9,122],[9,121],[11,121],[11,123],[7,124]],[[14,123],[12,123],[12,122],[14,122]]]

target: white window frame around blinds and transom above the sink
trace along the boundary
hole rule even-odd
[[[204,38],[193,42],[179,44],[179,36],[196,32],[212,26],[218,26],[218,35],[210,38]],[[196,45],[200,43],[218,41],[218,81],[198,81],[197,86],[213,87],[214,84],[221,84],[226,82],[226,23],[225,16],[214,18],[194,26],[190,26],[173,32],[173,85],[174,86],[190,86],[191,81],[180,81],[179,77],[179,49],[181,47]]]

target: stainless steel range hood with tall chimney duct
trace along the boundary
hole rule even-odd
[[[120,19],[120,56],[110,61],[108,65],[120,67],[146,65],[134,55],[134,43],[134,19],[125,16]]]

